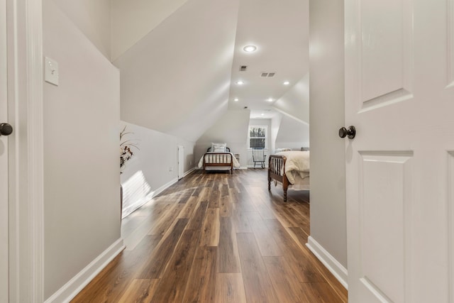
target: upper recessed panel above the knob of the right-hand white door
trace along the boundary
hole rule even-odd
[[[363,0],[358,5],[362,111],[411,98],[411,0]]]

